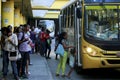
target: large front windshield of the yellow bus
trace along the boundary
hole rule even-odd
[[[97,40],[119,40],[119,6],[86,6],[85,34]]]

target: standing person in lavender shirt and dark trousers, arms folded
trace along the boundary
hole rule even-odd
[[[22,54],[22,71],[21,71],[21,76],[23,78],[28,78],[27,74],[25,73],[25,67],[27,65],[27,60],[29,56],[29,52],[31,51],[30,47],[30,36],[28,35],[30,26],[25,24],[24,25],[24,31],[18,35],[18,40],[19,40],[19,50]],[[20,71],[20,68],[18,69]]]

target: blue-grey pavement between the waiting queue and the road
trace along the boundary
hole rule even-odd
[[[25,80],[53,80],[52,74],[50,72],[50,68],[44,57],[41,57],[40,55],[32,54],[31,62],[33,63],[33,65],[29,66],[29,71],[31,74],[29,75],[29,79],[25,79]],[[0,64],[1,64],[0,69],[2,69],[1,58],[0,58]],[[1,71],[0,71],[0,78],[2,78]],[[7,80],[14,80],[11,70],[11,65],[9,65]]]

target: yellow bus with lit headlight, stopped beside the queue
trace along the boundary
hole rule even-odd
[[[120,68],[120,0],[75,0],[59,15],[82,70]]]

